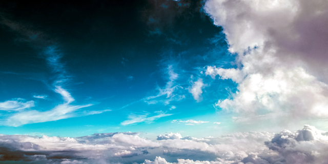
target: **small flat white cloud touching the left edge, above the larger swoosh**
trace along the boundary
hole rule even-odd
[[[13,100],[7,100],[0,102],[0,110],[4,111],[19,111],[34,107],[34,101],[26,101],[23,98],[16,98]]]

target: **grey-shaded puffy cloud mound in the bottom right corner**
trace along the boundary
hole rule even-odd
[[[325,131],[305,125],[302,130],[283,130],[265,145],[284,157],[286,163],[324,163],[328,160]]]

